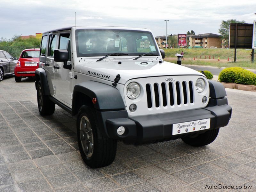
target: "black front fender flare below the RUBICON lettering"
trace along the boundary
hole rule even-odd
[[[96,103],[93,104],[95,109],[98,110],[120,110],[124,109],[124,101],[120,92],[113,86],[95,82],[86,81],[75,85],[73,90],[72,100],[72,114],[76,114],[76,95],[83,93],[88,96],[91,100],[96,98]]]

